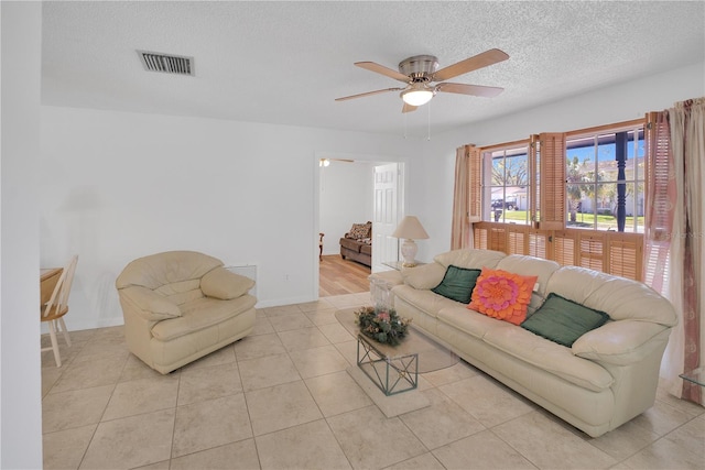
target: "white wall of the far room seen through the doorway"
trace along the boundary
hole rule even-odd
[[[372,220],[373,162],[332,161],[321,167],[321,231],[324,237],[323,254],[340,253],[340,237],[352,223]]]

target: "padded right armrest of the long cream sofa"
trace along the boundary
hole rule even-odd
[[[573,353],[616,365],[639,362],[668,342],[670,327],[649,321],[618,320],[579,337]]]

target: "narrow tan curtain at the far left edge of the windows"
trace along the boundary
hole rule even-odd
[[[473,230],[469,219],[469,178],[467,147],[458,147],[455,154],[455,190],[453,193],[453,227],[451,250],[473,248]]]

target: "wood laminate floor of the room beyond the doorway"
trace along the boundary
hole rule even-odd
[[[356,261],[344,260],[339,254],[328,254],[319,262],[318,296],[357,294],[368,292],[370,269]]]

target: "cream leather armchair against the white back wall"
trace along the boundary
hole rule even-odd
[[[253,285],[194,251],[130,262],[116,281],[128,349],[166,374],[237,341],[254,328]]]

